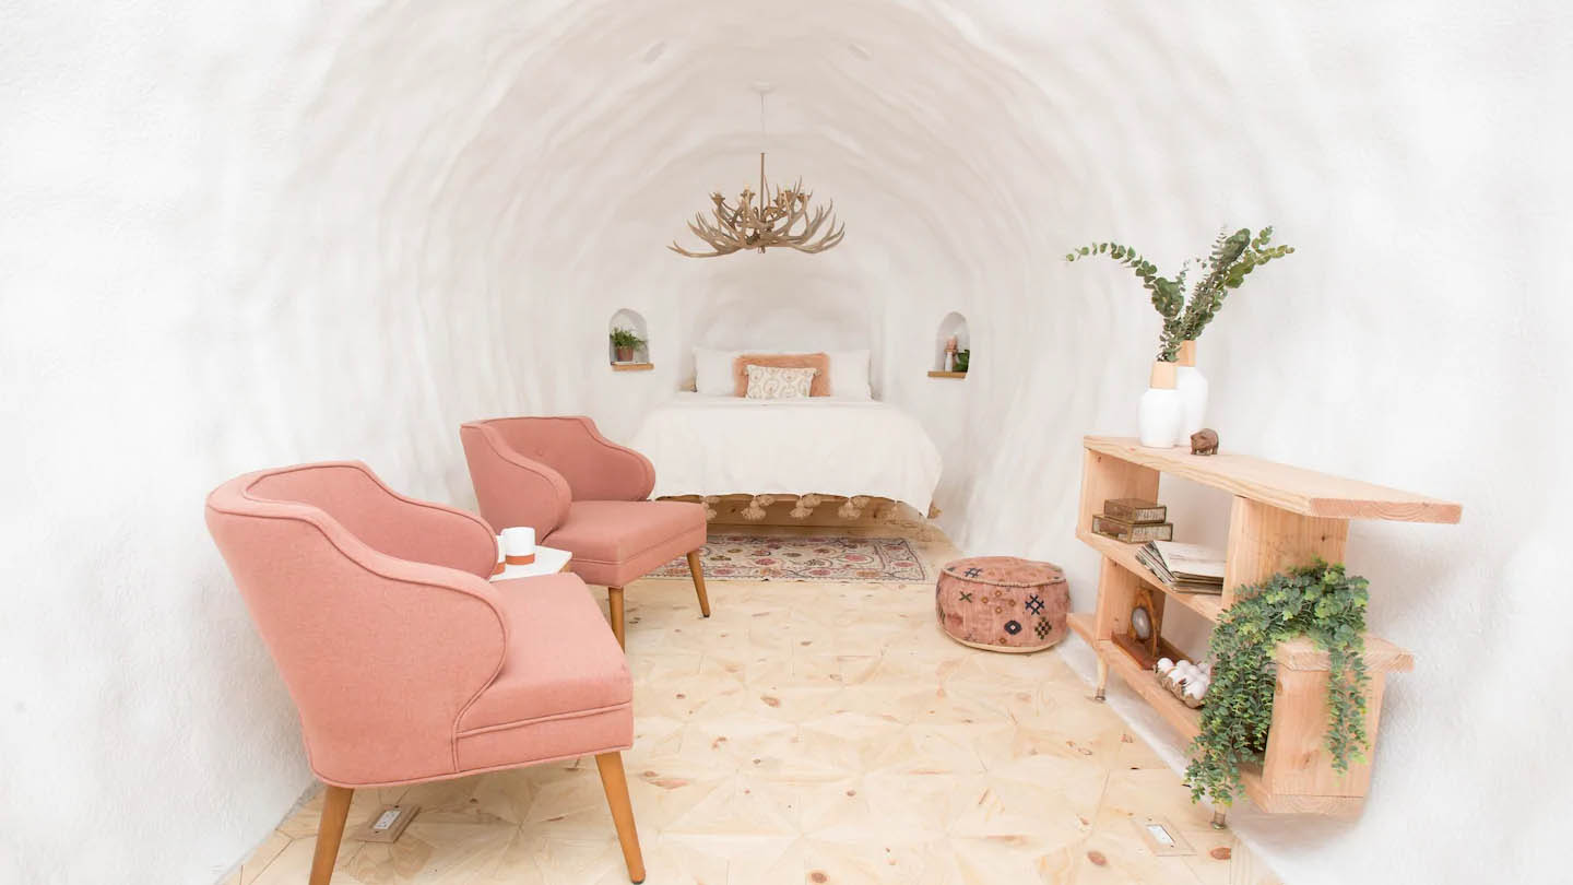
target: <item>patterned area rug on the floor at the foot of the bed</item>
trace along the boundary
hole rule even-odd
[[[717,581],[884,581],[930,580],[906,539],[838,535],[709,535],[705,576]],[[673,559],[648,578],[689,580],[687,561]]]

